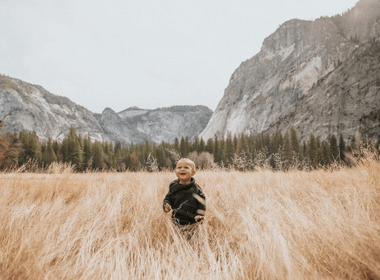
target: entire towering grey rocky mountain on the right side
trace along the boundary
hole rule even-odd
[[[380,1],[361,0],[343,15],[290,20],[243,62],[203,139],[286,132],[370,138],[380,133]]]

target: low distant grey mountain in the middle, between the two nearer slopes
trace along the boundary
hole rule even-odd
[[[96,118],[114,141],[126,144],[149,141],[172,142],[180,137],[190,139],[207,125],[212,111],[205,106],[172,106],[155,110],[128,108],[116,113],[106,108]]]

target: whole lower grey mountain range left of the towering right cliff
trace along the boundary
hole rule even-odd
[[[0,120],[2,132],[36,131],[41,140],[62,140],[71,126],[93,140],[123,144],[172,141],[198,135],[212,111],[205,106],[174,106],[155,110],[136,107],[120,113],[106,108],[94,114],[66,97],[41,86],[0,76]]]

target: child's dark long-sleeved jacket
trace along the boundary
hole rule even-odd
[[[205,215],[206,197],[194,178],[187,185],[178,180],[171,182],[164,198],[164,205],[166,203],[172,207],[172,217],[180,225],[194,224],[195,216]]]

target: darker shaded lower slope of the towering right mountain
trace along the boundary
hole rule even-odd
[[[295,106],[282,111],[266,133],[295,126],[301,139],[313,133],[325,139],[342,134],[350,139],[356,131],[377,140],[380,135],[380,43],[362,45],[320,79]]]

